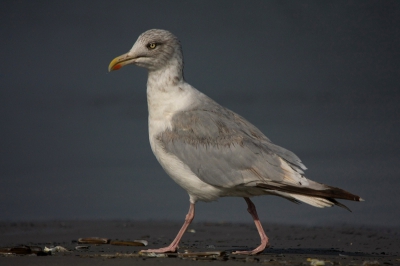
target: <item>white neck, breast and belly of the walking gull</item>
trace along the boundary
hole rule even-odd
[[[176,67],[169,66],[162,70],[149,71],[147,102],[150,146],[168,175],[188,191],[191,203],[195,203],[198,199],[215,200],[221,191],[201,181],[184,162],[168,153],[157,137],[165,130],[173,128],[174,114],[194,108],[201,103],[202,98],[203,94],[186,83]]]

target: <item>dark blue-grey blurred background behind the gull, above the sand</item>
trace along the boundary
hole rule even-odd
[[[183,221],[188,195],[148,143],[144,69],[107,73],[151,28],[185,78],[362,196],[318,209],[255,199],[262,222],[399,226],[399,1],[2,1],[0,220]],[[240,198],[197,221],[251,222]]]

